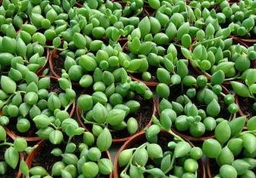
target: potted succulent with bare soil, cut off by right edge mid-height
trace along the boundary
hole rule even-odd
[[[232,89],[235,92],[235,102],[239,105],[239,113],[247,117],[247,120],[254,117],[256,109],[254,73],[256,73],[255,69],[245,70],[240,81],[231,82]]]

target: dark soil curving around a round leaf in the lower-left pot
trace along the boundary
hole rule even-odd
[[[23,137],[36,137],[36,125],[33,122],[33,120],[30,120],[30,129],[27,130],[26,133],[21,133],[17,130],[17,117],[10,118],[10,122],[7,126],[9,130],[11,130],[12,133],[14,133],[17,136],[23,136]]]

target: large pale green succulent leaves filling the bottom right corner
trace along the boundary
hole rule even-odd
[[[252,117],[245,126],[245,117],[237,117],[228,122],[221,121],[215,130],[215,139],[203,143],[203,152],[207,158],[215,158],[220,167],[213,173],[215,178],[254,177],[256,166],[256,118]]]

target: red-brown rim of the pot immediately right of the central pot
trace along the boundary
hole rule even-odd
[[[226,89],[225,86],[222,86],[222,88],[223,88],[223,93],[225,93],[225,94],[230,93],[229,90]],[[157,103],[157,114],[160,115],[160,108],[159,108],[160,98],[157,99],[156,103]],[[236,117],[236,113],[233,114],[232,118],[234,119],[235,117]],[[191,141],[191,142],[204,142],[204,140],[206,140],[206,139],[214,139],[215,138],[214,133],[213,133],[213,135],[210,135],[210,136],[194,137],[194,136],[188,136],[185,133],[182,133],[179,130],[176,130],[175,127],[173,127],[173,126],[172,126],[171,129],[172,129],[172,132],[174,132],[175,134],[177,134],[179,136],[182,136],[182,138],[185,138],[185,139],[187,139],[188,141]]]

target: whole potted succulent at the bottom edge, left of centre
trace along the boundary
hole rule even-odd
[[[112,177],[112,162],[106,147],[111,140],[103,141],[102,137],[108,135],[104,132],[95,140],[75,120],[62,121],[58,130],[49,133],[49,140],[40,141],[28,155],[21,168],[24,177]]]

